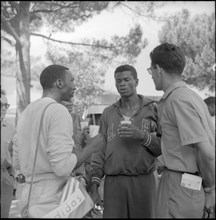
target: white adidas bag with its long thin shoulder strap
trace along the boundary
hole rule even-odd
[[[50,104],[53,104],[53,103],[50,103]],[[44,112],[50,104],[48,104],[45,107],[42,113],[40,125],[39,125],[39,131],[41,130]],[[38,139],[39,139],[39,133],[40,132],[38,132]],[[33,177],[34,177],[34,170],[35,170],[35,163],[36,163],[37,151],[38,151],[38,139],[37,139],[37,146],[35,150],[35,158],[34,158],[34,164],[33,164],[33,170],[32,170],[32,179],[31,179],[31,184],[30,184],[30,189],[29,189],[25,217],[38,218],[40,216],[40,213],[41,212],[43,213],[44,209],[50,210],[50,212],[43,215],[42,218],[82,218],[84,217],[94,207],[94,202],[92,201],[91,197],[89,196],[85,188],[82,186],[82,184],[78,181],[78,179],[75,176],[71,176],[71,175],[69,176],[63,188],[62,196],[59,197],[60,199],[58,201],[59,203],[58,207],[56,207],[56,201],[53,201],[51,203],[36,204],[36,205],[29,207],[31,189],[32,189],[32,184],[33,184]],[[41,208],[41,212],[40,212],[40,208]]]

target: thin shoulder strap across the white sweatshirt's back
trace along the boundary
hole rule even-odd
[[[34,163],[33,163],[33,169],[32,169],[32,176],[31,176],[31,184],[30,184],[30,189],[29,189],[29,195],[28,195],[28,202],[27,202],[27,212],[29,209],[29,203],[30,203],[30,196],[31,196],[31,190],[32,190],[32,183],[33,183],[33,177],[34,177],[34,171],[35,171],[35,164],[36,164],[36,159],[37,159],[37,152],[38,152],[38,142],[39,142],[39,137],[40,137],[40,130],[42,128],[42,122],[43,122],[43,118],[44,118],[44,113],[46,111],[46,109],[51,105],[54,104],[55,102],[51,102],[49,103],[45,109],[42,112],[41,115],[41,119],[40,119],[40,124],[39,124],[39,131],[38,131],[38,137],[37,137],[37,143],[36,143],[36,149],[35,149],[35,157],[34,157]]]

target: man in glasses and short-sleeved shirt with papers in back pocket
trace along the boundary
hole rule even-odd
[[[208,109],[182,81],[185,56],[164,43],[150,53],[156,90],[164,91],[158,115],[162,130],[159,161],[164,165],[158,193],[158,218],[201,218],[215,208],[215,137]],[[204,211],[204,213],[203,213]]]

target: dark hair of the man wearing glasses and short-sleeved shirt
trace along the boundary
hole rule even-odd
[[[151,65],[154,67],[159,65],[168,73],[175,73],[181,75],[186,59],[181,49],[170,43],[163,43],[154,48],[150,53]]]

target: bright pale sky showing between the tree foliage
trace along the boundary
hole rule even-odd
[[[126,3],[126,2],[122,2]],[[139,5],[140,2],[127,2],[129,6],[135,9],[135,6]],[[166,5],[160,7],[156,10],[156,15],[159,16],[171,16],[175,13],[181,11],[183,8],[188,9],[191,15],[197,13],[207,13],[210,14],[215,10],[214,1],[171,1],[166,2]],[[64,36],[64,40],[77,40],[79,42],[80,38],[94,37],[94,38],[106,38],[110,39],[114,34],[116,35],[126,35],[129,29],[133,27],[133,24],[139,22],[142,25],[144,37],[148,39],[148,46],[141,52],[137,58],[137,62],[134,64],[138,72],[139,85],[137,88],[138,93],[144,95],[162,95],[162,91],[156,91],[151,77],[147,73],[147,68],[150,66],[150,51],[159,44],[158,41],[158,30],[162,26],[162,22],[158,23],[145,17],[138,16],[135,17],[135,13],[126,7],[121,7],[115,9],[114,12],[103,11],[101,14],[94,16],[87,23],[76,28],[76,31],[69,35]],[[61,35],[56,35],[55,37],[59,39]],[[113,73],[116,67],[111,67],[105,76],[105,89],[110,91],[116,91],[114,84]],[[196,90],[197,91],[197,90]],[[200,93],[201,96],[205,96]]]

